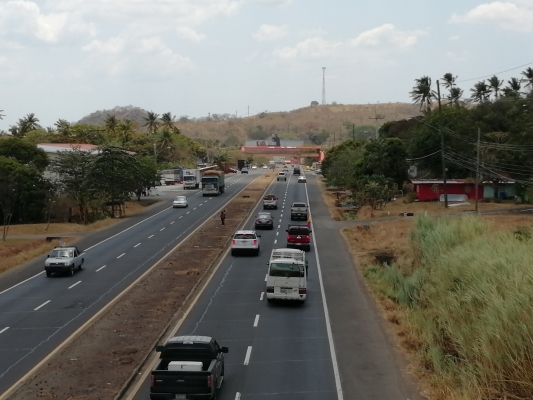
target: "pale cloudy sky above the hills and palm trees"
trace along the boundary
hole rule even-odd
[[[325,70],[323,69],[325,67]],[[0,0],[0,130],[136,106],[205,117],[470,95],[533,67],[533,0]]]

